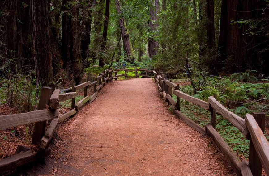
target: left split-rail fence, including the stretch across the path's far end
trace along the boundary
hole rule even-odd
[[[117,75],[117,71],[121,70],[124,70],[125,74]],[[14,170],[19,166],[23,166],[27,163],[45,157],[45,155],[50,152],[48,145],[53,137],[57,125],[75,115],[83,104],[94,101],[97,97],[98,91],[105,86],[105,83],[108,83],[113,79],[117,80],[117,78],[120,76],[125,76],[127,78],[129,76],[127,76],[126,72],[130,71],[135,71],[135,78],[138,78],[139,76],[148,77],[147,73],[149,70],[106,69],[103,71],[103,73],[100,73],[99,76],[94,77],[93,82],[84,80],[82,84],[77,86],[75,86],[73,83],[71,89],[65,89],[67,92],[69,92],[63,94],[60,94],[60,90],[55,89],[54,85],[42,87],[37,111],[0,116],[0,130],[35,123],[32,136],[32,145],[36,146],[35,149],[29,149],[27,146],[19,145],[15,155],[0,161],[0,175],[10,170]],[[137,74],[137,71],[145,71],[146,74]],[[92,95],[87,95],[87,89],[89,87],[93,87]],[[79,91],[82,89],[84,89],[84,98],[75,104],[75,97],[79,96]],[[60,116],[57,110],[59,102],[69,99],[71,99],[72,110]],[[45,131],[47,122],[49,125]]]

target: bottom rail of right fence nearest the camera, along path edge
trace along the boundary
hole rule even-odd
[[[241,160],[236,156],[231,147],[224,141],[224,139],[220,136],[220,134],[212,127],[211,124],[206,125],[207,134],[214,140],[215,144],[220,149],[221,153],[223,153],[224,157],[233,168],[233,171],[237,175],[241,175]]]

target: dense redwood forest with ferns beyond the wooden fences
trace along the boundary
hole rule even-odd
[[[35,110],[41,86],[67,88],[107,68],[157,67],[194,97],[217,95],[241,116],[266,112],[268,126],[268,0],[0,2],[0,115]],[[182,111],[197,110],[193,120],[203,117],[182,103]],[[239,143],[233,149],[248,151]]]

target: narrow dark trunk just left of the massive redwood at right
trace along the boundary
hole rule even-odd
[[[215,21],[214,21],[214,0],[207,0],[207,47],[212,49],[215,44]]]

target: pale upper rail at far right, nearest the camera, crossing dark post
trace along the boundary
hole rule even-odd
[[[253,145],[260,158],[264,170],[269,175],[269,143],[254,117],[250,114],[246,114],[245,117],[246,126],[250,132]]]

